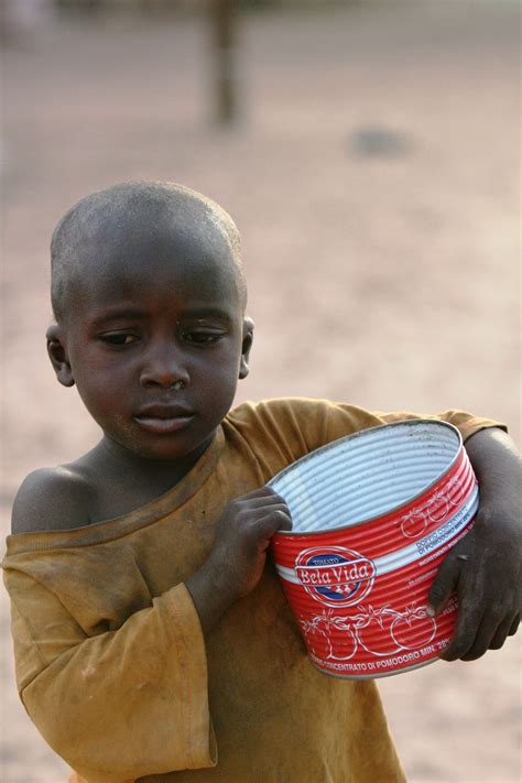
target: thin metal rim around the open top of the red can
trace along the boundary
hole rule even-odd
[[[463,447],[464,447],[464,442],[463,442],[463,436],[460,434],[460,431],[457,429],[457,427],[454,424],[450,424],[449,422],[443,422],[437,418],[404,418],[400,422],[391,422],[390,424],[378,424],[374,427],[366,427],[365,429],[359,429],[357,433],[351,433],[350,435],[345,435],[344,437],[336,438],[335,441],[331,441],[330,443],[325,444],[324,446],[319,446],[318,448],[315,448],[313,452],[309,452],[308,454],[305,454],[303,457],[300,457],[300,459],[296,459],[294,463],[291,465],[287,465],[283,470],[281,470],[279,474],[273,476],[270,481],[267,482],[267,487],[272,487],[272,485],[286,474],[292,472],[296,466],[303,465],[304,463],[308,461],[309,459],[315,458],[317,454],[324,454],[325,452],[330,450],[331,448],[336,447],[339,443],[346,443],[347,441],[355,441],[357,438],[363,437],[367,435],[369,432],[376,432],[377,429],[389,429],[390,427],[398,427],[398,426],[418,426],[420,424],[429,424],[438,427],[443,427],[446,429],[449,429],[453,432],[454,435],[457,436],[458,441],[458,448],[450,460],[450,463],[447,465],[447,467],[436,476],[436,478],[428,485],[426,485],[417,494],[414,494],[412,498],[409,498],[406,502],[398,503],[396,505],[393,505],[391,509],[389,509],[385,513],[383,514],[378,514],[377,516],[367,516],[366,519],[359,520],[359,522],[354,522],[352,524],[347,524],[342,525],[340,528],[330,528],[329,530],[311,530],[311,531],[298,531],[298,530],[278,530],[274,535],[284,535],[284,536],[309,536],[309,535],[327,535],[328,533],[338,533],[339,531],[342,530],[350,530],[352,528],[358,528],[361,524],[367,524],[368,522],[374,522],[376,520],[379,520],[383,516],[389,516],[390,514],[393,514],[398,512],[400,509],[404,508],[405,505],[409,505],[410,503],[415,502],[418,500],[418,498],[422,498],[423,494],[426,494],[433,487],[435,487],[441,479],[443,479],[454,467],[455,463],[459,459]]]

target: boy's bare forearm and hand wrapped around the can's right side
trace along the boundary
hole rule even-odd
[[[480,486],[471,531],[450,551],[429,591],[438,615],[452,592],[459,602],[455,635],[442,657],[474,661],[516,631],[522,606],[521,459],[497,427],[466,442]]]

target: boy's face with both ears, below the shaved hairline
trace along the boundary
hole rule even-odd
[[[218,231],[154,229],[97,241],[52,327],[58,380],[78,392],[107,437],[134,454],[197,454],[248,373],[253,325]],[[54,329],[54,331],[53,331]]]

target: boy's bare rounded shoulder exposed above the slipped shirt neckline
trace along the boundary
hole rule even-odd
[[[75,464],[39,468],[23,480],[12,509],[12,533],[70,530],[89,523],[93,487]]]

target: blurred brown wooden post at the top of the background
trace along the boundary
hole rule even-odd
[[[238,116],[236,41],[239,0],[209,0],[213,33],[215,116],[229,124]]]

